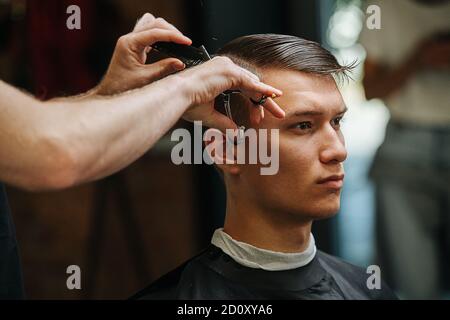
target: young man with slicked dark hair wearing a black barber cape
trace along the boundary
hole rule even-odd
[[[231,100],[238,125],[278,130],[278,173],[261,175],[259,164],[217,164],[234,159],[214,153],[227,189],[224,228],[203,253],[135,297],[395,299],[383,282],[369,289],[366,270],[316,250],[311,234],[314,220],[339,210],[347,157],[340,122],[346,106],[334,76],[345,77],[350,67],[339,65],[317,43],[285,35],[238,38],[219,54],[283,91],[277,99],[286,113],[282,120],[266,115],[259,121],[252,115],[261,106],[239,95]],[[247,108],[239,108],[243,104]],[[220,148],[222,142],[207,143]]]

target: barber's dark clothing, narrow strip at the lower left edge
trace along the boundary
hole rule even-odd
[[[0,183],[0,300],[23,298],[22,271],[16,233],[5,187]]]

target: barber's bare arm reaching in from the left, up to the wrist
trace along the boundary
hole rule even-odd
[[[110,98],[40,102],[0,82],[0,180],[56,190],[122,169],[190,105],[185,83],[171,76]]]

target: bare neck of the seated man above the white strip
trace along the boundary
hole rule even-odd
[[[312,221],[285,212],[264,210],[251,201],[227,197],[224,231],[255,247],[285,253],[303,252],[309,244]]]

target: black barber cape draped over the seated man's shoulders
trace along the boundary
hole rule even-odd
[[[364,269],[321,251],[297,269],[252,269],[210,245],[132,299],[397,299],[383,282],[381,289],[369,290],[369,276]]]

